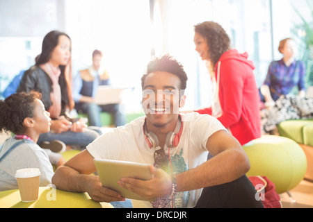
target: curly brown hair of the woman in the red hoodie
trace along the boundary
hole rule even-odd
[[[211,21],[195,25],[195,33],[207,40],[211,67],[214,69],[220,56],[230,50],[230,37],[220,24]]]

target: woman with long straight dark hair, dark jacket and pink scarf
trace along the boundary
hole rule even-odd
[[[42,142],[60,140],[66,145],[83,149],[99,136],[95,130],[86,128],[80,120],[67,118],[67,112],[74,108],[68,69],[70,58],[70,37],[60,31],[47,33],[38,60],[25,71],[17,88],[17,92],[40,92],[45,110],[50,113],[51,130],[40,135],[40,146],[47,147]]]

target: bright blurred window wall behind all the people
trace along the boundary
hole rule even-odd
[[[141,76],[151,56],[170,53],[188,74],[185,110],[211,104],[211,83],[195,51],[193,26],[212,20],[255,63],[260,87],[278,44],[294,37],[312,85],[312,0],[0,0],[0,99],[19,71],[29,69],[52,30],[70,35],[72,75],[104,53],[113,85],[128,87],[127,112],[141,110]]]

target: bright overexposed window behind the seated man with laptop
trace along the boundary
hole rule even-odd
[[[129,88],[122,95],[126,112],[140,111],[141,76],[152,49],[149,1],[67,0],[65,15],[73,75],[92,64],[95,49],[101,50],[112,85]]]

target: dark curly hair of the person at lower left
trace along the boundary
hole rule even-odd
[[[41,99],[39,92],[19,92],[0,101],[0,130],[23,134],[26,130],[23,121],[34,117],[35,100]]]

